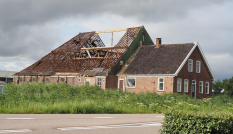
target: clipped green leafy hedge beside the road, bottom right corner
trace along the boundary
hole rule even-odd
[[[165,113],[162,126],[162,134],[232,134],[233,116],[229,111],[169,111]]]

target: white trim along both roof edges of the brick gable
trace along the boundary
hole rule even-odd
[[[179,66],[179,68],[176,70],[175,76],[177,76],[177,75],[179,74],[180,70],[183,68],[184,64],[185,64],[186,61],[189,59],[189,57],[190,57],[190,55],[192,54],[192,52],[195,50],[196,47],[198,47],[198,49],[199,49],[200,52],[201,52],[201,56],[202,56],[202,58],[204,59],[204,62],[206,63],[206,65],[207,65],[207,69],[209,70],[211,76],[213,77],[212,80],[214,81],[214,80],[215,80],[214,74],[213,74],[213,72],[212,72],[212,70],[211,70],[211,68],[210,68],[210,66],[209,66],[209,64],[208,64],[208,62],[207,62],[207,60],[206,60],[206,58],[205,58],[205,55],[204,55],[203,51],[201,50],[201,47],[200,47],[199,43],[198,43],[198,42],[194,42],[194,44],[195,44],[195,45],[194,45],[193,48],[190,50],[190,52],[188,53],[188,55],[186,56],[186,58],[184,59],[184,61],[182,62],[182,64],[181,64],[181,65]]]

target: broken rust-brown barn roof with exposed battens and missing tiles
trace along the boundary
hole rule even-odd
[[[80,33],[15,75],[109,72],[142,28],[144,27]],[[119,31],[126,32],[112,47],[105,47],[98,35],[99,33]]]

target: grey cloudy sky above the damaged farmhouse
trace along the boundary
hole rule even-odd
[[[20,71],[79,32],[144,25],[165,44],[199,42],[215,77],[230,78],[232,7],[232,0],[0,0],[0,70]]]

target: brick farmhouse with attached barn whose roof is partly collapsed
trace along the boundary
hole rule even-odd
[[[121,31],[125,34],[111,47],[99,36]],[[13,76],[18,84],[61,82],[196,98],[211,96],[214,79],[197,42],[162,44],[157,38],[154,44],[143,26],[79,33]]]

